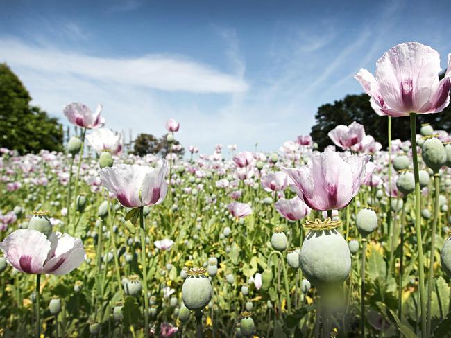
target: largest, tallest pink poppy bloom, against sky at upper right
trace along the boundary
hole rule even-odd
[[[448,69],[439,80],[440,55],[418,42],[398,44],[376,62],[375,77],[366,69],[355,75],[371,106],[393,117],[441,112],[450,103],[451,54]]]

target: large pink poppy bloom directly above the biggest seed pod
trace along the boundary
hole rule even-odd
[[[282,170],[309,208],[327,211],[344,208],[357,195],[369,159],[369,155],[341,158],[337,152],[323,152],[313,155],[307,166]]]

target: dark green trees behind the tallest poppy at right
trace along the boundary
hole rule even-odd
[[[370,97],[367,94],[348,95],[333,104],[327,103],[318,108],[315,115],[316,124],[312,127],[312,139],[318,143],[318,149],[323,150],[327,145],[333,144],[327,133],[337,125],[350,125],[357,121],[365,127],[366,134],[375,138],[386,148],[388,145],[387,128],[388,118],[377,115],[371,108]],[[451,107],[446,107],[438,114],[426,114],[417,116],[417,132],[421,124],[430,123],[436,130],[451,130]],[[391,119],[392,139],[402,141],[410,139],[409,117],[397,117]]]

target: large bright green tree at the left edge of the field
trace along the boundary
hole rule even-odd
[[[0,146],[20,154],[62,150],[58,119],[30,105],[31,96],[6,64],[0,64]]]

